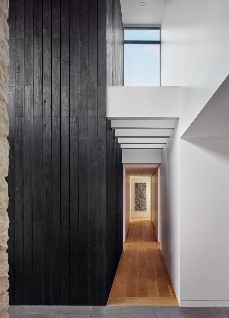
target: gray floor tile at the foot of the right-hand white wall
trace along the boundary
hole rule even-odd
[[[220,307],[157,306],[158,314],[224,314]],[[161,317],[162,318],[162,317]]]

